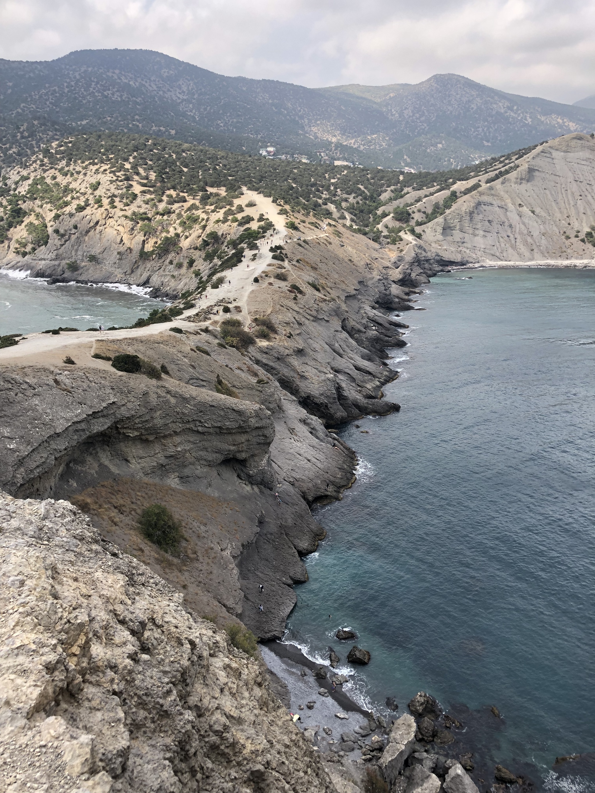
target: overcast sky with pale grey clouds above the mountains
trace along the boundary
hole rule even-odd
[[[0,56],[144,48],[306,86],[455,72],[516,94],[595,94],[585,0],[0,0]]]

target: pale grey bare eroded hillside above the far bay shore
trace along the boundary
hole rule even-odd
[[[397,258],[401,283],[413,272],[435,273],[451,264],[593,259],[589,227],[595,223],[595,141],[580,133],[539,146],[516,170],[459,197],[450,209],[419,227],[421,239]],[[454,185],[459,196],[476,180]],[[418,201],[423,220],[448,192]],[[591,238],[593,239],[593,238]]]

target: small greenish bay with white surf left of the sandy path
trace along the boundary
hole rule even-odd
[[[50,328],[97,328],[131,325],[163,301],[148,289],[125,284],[48,285],[42,278],[15,278],[0,271],[0,335],[35,333]]]

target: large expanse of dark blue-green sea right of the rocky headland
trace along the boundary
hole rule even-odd
[[[368,703],[495,705],[493,760],[546,778],[595,750],[595,272],[458,275],[406,316],[401,412],[342,432],[361,477],[317,511],[286,640],[344,659],[354,627]]]

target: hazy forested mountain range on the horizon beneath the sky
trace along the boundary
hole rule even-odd
[[[438,170],[595,128],[595,109],[505,94],[459,75],[311,89],[225,77],[149,50],[0,60],[0,101],[6,163],[46,140],[98,129]]]

